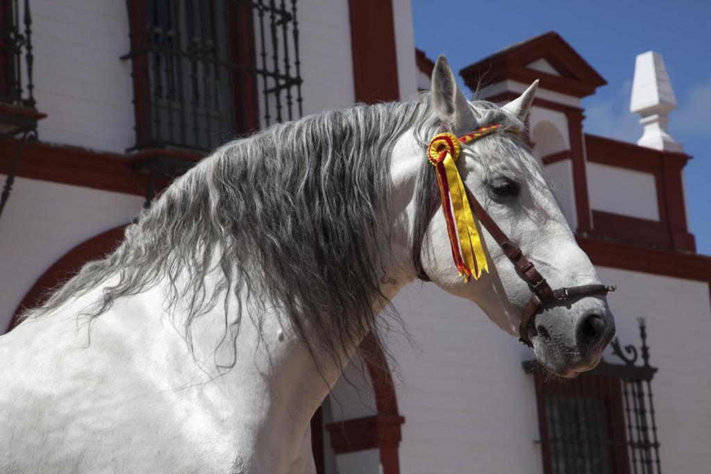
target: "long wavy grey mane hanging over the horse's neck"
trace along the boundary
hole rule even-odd
[[[250,317],[259,318],[266,305],[276,308],[312,355],[325,351],[338,360],[353,340],[377,329],[383,318],[376,313],[390,303],[380,291],[390,257],[390,157],[408,129],[416,130],[423,152],[417,248],[437,205],[434,173],[424,163],[439,126],[430,102],[424,93],[360,104],[225,144],[144,210],[117,250],[86,264],[27,316],[106,284],[85,309],[96,318],[116,298],[165,279],[164,306],[185,308],[180,324],[189,345],[195,318],[224,301],[227,323],[228,296],[247,294],[257,309]],[[482,125],[520,127],[494,104],[472,107]],[[208,277],[216,286],[208,287]]]

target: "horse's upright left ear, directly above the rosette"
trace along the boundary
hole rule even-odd
[[[476,117],[471,112],[466,100],[456,85],[454,73],[444,55],[437,58],[432,71],[432,100],[439,119],[447,124],[451,131],[469,131],[476,128]]]

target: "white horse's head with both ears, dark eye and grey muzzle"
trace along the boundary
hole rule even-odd
[[[450,215],[456,212],[456,198],[453,196],[449,202],[449,197],[441,192],[431,198],[432,189],[439,184],[433,177],[437,170],[429,166],[422,154],[418,158],[410,156],[408,162],[419,159],[417,166],[425,168],[419,171],[420,204],[411,205],[417,208],[410,220],[414,222],[411,235],[415,270],[422,279],[430,279],[445,291],[474,301],[500,328],[532,345],[538,361],[548,370],[574,377],[597,365],[602,350],[614,335],[614,320],[604,295],[609,287],[599,284],[594,266],[578,247],[552,186],[523,137],[523,124],[537,85],[535,82],[503,107],[490,102],[469,102],[457,87],[447,60],[444,57],[437,60],[431,101],[442,124],[440,131],[461,136],[482,127],[484,131],[496,127],[495,132],[481,139],[461,144],[456,168],[471,200],[481,203],[481,209],[495,222],[493,226],[498,227],[503,237],[499,235],[497,239],[493,235],[496,232],[484,228],[481,219],[476,220],[474,232],[481,236],[479,252],[483,252],[479,258],[481,263],[486,259],[483,264],[488,271],[481,271],[479,279],[466,281],[466,274],[463,278],[453,262],[458,251],[464,252],[459,249],[463,244],[453,237],[456,229],[452,229],[462,217],[450,217],[447,222],[447,210]],[[395,173],[397,169],[397,165],[393,167]],[[446,173],[451,171],[443,173],[441,179],[447,181]],[[442,199],[448,201],[447,209],[440,207]],[[428,206],[433,200],[434,205]],[[510,247],[518,247],[520,252],[516,254],[518,249],[507,248],[508,244],[502,247],[502,240],[510,240],[513,244]],[[538,294],[534,288],[537,282],[527,279],[528,271],[520,264],[521,257],[535,264],[540,271],[535,274],[547,277],[548,290],[560,288],[550,293],[557,297],[551,297],[545,305],[527,308],[537,298],[532,299],[532,293]],[[576,293],[574,287],[582,290]],[[573,291],[569,294],[566,289]],[[530,324],[528,320],[522,324],[526,311],[530,313]]]

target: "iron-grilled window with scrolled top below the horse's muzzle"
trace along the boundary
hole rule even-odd
[[[604,360],[575,379],[535,377],[538,424],[545,474],[660,474],[659,442],[646,326],[641,347],[611,343],[623,362]],[[636,365],[638,356],[642,364]]]

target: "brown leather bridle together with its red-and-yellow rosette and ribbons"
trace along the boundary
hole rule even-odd
[[[476,196],[471,193],[466,183],[461,180],[455,164],[461,152],[461,144],[469,144],[493,134],[499,128],[499,124],[493,124],[459,137],[446,132],[437,134],[429,143],[427,159],[437,171],[437,185],[442,200],[442,211],[447,221],[452,257],[459,274],[463,276],[464,281],[470,281],[471,278],[478,280],[483,270],[488,272],[481,237],[474,222],[474,216],[476,216],[479,223],[491,234],[506,257],[513,263],[518,276],[528,284],[532,293],[518,326],[519,340],[532,348],[533,343],[528,337],[528,328],[535,322],[535,315],[539,311],[556,303],[571,301],[583,296],[604,296],[609,291],[615,291],[616,286],[590,284],[552,289],[533,263],[523,255],[520,248],[511,242],[501,227],[498,227],[481,206]],[[421,248],[413,249],[415,271],[419,279],[430,281],[422,268],[420,252]]]

